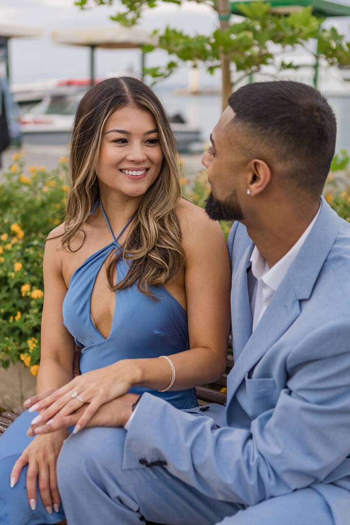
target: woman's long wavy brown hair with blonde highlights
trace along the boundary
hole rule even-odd
[[[62,248],[83,230],[93,204],[100,197],[97,166],[102,130],[114,111],[134,106],[149,111],[156,122],[163,151],[161,172],[143,196],[123,247],[105,262],[111,290],[137,282],[137,288],[156,299],[150,286],[163,286],[179,276],[185,266],[181,228],[175,206],[181,197],[176,143],[164,108],[153,91],[132,77],[109,78],[92,87],[81,99],[75,117],[68,163],[70,192]],[[131,260],[125,278],[114,284],[116,262]]]

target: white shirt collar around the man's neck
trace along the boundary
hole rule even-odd
[[[305,232],[299,237],[294,246],[285,254],[282,259],[276,262],[272,268],[269,267],[267,260],[260,254],[260,251],[256,246],[254,246],[253,252],[250,257],[251,262],[251,271],[253,276],[258,279],[263,280],[263,282],[273,291],[276,291],[280,286],[282,280],[287,274],[289,268],[291,267],[295,257],[299,254],[301,247],[303,246],[307,236],[312,230],[313,225],[315,224],[317,217],[320,214],[322,203],[320,203],[319,211],[316,213],[315,217],[305,229]]]

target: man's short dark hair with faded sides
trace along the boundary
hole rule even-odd
[[[322,193],[334,156],[336,119],[319,91],[290,80],[254,82],[232,93],[228,103],[236,113],[232,123],[243,124],[254,140],[259,137],[259,145],[283,164],[280,175],[287,184]],[[252,154],[253,142],[247,144]]]

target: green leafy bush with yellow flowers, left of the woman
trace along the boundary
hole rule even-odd
[[[0,179],[0,365],[21,359],[36,375],[43,307],[45,239],[62,222],[66,159],[58,169],[31,166],[21,154]]]

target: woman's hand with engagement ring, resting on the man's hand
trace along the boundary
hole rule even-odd
[[[126,394],[137,383],[137,361],[139,360],[125,359],[75,377],[44,400],[31,406],[30,412],[41,411],[31,424],[41,426],[55,418],[60,420],[67,418],[84,404],[86,408],[73,431],[78,432],[87,425],[101,405]],[[27,434],[28,436],[35,435],[32,426],[28,429]]]

